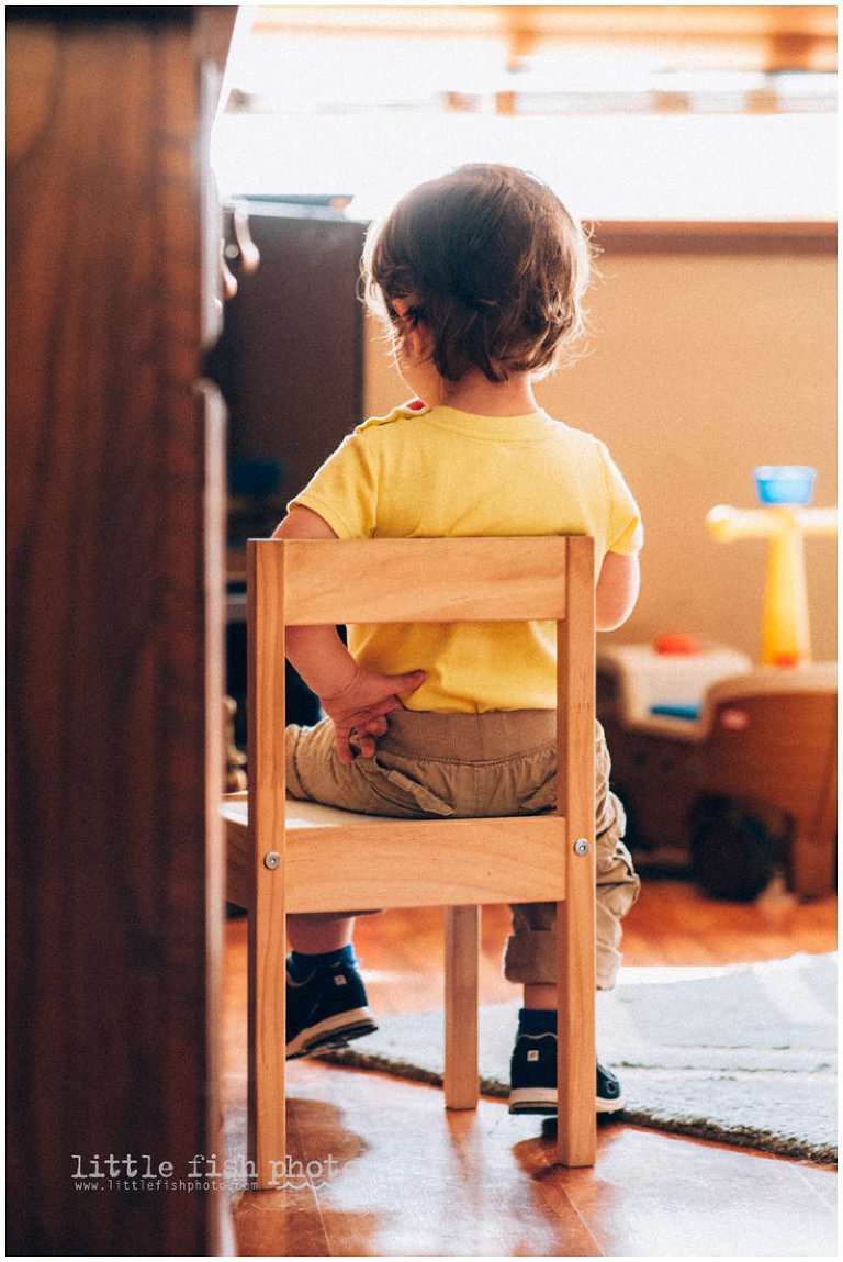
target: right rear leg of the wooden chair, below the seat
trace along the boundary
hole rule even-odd
[[[575,883],[572,882],[574,886]],[[572,891],[565,902],[557,905],[559,950],[557,1152],[564,1166],[593,1166],[597,1152],[594,917],[588,915],[592,911],[593,896],[593,887],[583,891],[582,897],[577,897]]]

